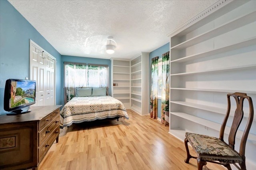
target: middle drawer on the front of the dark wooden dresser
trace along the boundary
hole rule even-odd
[[[55,119],[53,121],[51,121],[44,129],[42,129],[39,133],[38,133],[38,146],[40,147],[42,145],[42,143],[44,143],[44,141],[50,136],[52,135],[54,129],[56,129],[56,127],[60,128],[60,117],[56,116]]]

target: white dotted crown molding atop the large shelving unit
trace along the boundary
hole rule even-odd
[[[174,31],[172,31],[171,33],[169,33],[167,36],[168,37],[172,37],[174,35],[176,35],[177,33],[179,33],[180,31],[183,31],[184,29],[188,28],[190,25],[202,20],[203,18],[205,18],[206,16],[212,14],[213,12],[215,12],[216,10],[222,8],[223,6],[229,4],[230,2],[232,2],[233,0],[219,0],[218,2],[216,2],[215,4],[213,4],[212,6],[210,6],[209,8],[207,8],[206,10],[204,10],[203,12],[201,12],[200,14],[196,15],[195,17],[193,17],[192,19],[188,20],[187,22],[185,22],[184,24],[180,25],[180,27],[178,27],[177,29],[174,29]]]

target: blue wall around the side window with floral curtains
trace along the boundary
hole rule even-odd
[[[162,58],[162,54],[166,53],[170,51],[170,43],[167,43],[166,45],[163,45],[162,47],[159,47],[158,49],[155,49],[154,51],[152,51],[151,53],[149,53],[149,68],[148,68],[148,72],[149,74],[149,80],[150,80],[150,84],[151,84],[151,59],[157,56],[160,56],[159,58]],[[151,89],[149,89],[149,95],[150,95]],[[157,106],[157,117],[161,118],[161,100],[158,99],[158,106]]]

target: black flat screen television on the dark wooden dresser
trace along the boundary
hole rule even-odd
[[[8,79],[4,88],[4,110],[22,114],[31,111],[28,106],[36,103],[36,81]]]

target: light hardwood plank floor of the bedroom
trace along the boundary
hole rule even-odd
[[[156,119],[128,109],[129,120],[73,124],[60,134],[40,170],[196,170],[195,159],[184,162],[184,142]],[[190,147],[192,155],[196,155]],[[224,170],[208,163],[205,169]]]

